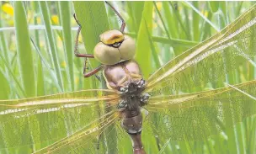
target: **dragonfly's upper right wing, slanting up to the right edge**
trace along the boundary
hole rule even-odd
[[[149,77],[146,92],[170,93],[213,86],[256,55],[256,7],[220,33],[169,61]]]

